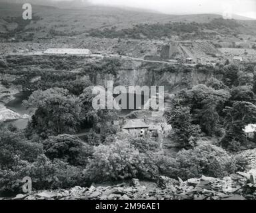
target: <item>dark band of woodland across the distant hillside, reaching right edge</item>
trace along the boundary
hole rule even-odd
[[[199,16],[196,17],[198,18]],[[254,29],[251,29],[251,25],[248,25],[248,23],[222,18],[209,19],[205,23],[199,21],[169,21],[169,23],[144,23],[127,29],[117,29],[117,27],[105,28],[103,30],[93,29],[89,35],[112,39],[161,39],[162,37],[171,38],[172,36],[179,36],[182,40],[214,39],[221,35],[236,36],[243,33],[253,33]]]

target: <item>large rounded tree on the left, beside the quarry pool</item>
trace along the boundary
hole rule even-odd
[[[28,128],[35,129],[42,137],[74,133],[81,122],[82,103],[61,88],[35,91],[25,101],[28,108],[36,108]],[[29,130],[29,129],[28,129]]]

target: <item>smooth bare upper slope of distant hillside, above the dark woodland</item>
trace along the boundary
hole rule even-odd
[[[3,0],[0,0],[3,1]],[[46,1],[47,2],[47,1]],[[81,9],[59,9],[33,5],[33,14],[40,17],[39,21],[28,23],[26,29],[45,33],[52,31],[56,35],[65,33],[85,33],[90,29],[104,29],[117,27],[117,29],[131,28],[139,23],[168,23],[169,21],[196,21],[207,22],[219,17],[218,15],[165,15],[161,13],[149,13],[145,11],[132,11],[116,7],[92,6]],[[20,17],[22,14],[21,4],[0,3],[0,26],[2,32],[8,31],[7,26],[13,24],[6,20],[7,17]],[[7,23],[6,23],[7,22]]]

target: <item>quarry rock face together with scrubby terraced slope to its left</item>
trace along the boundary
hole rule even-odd
[[[49,75],[65,79],[89,75],[95,85],[106,85],[107,81],[113,80],[116,85],[165,86],[165,91],[172,93],[191,85],[205,83],[212,75],[211,68],[205,71],[183,65],[119,60],[121,65],[116,73],[89,73],[84,69],[85,66],[101,63],[101,60],[76,56],[8,56],[0,64],[0,81],[5,84],[2,91],[7,96],[13,93],[14,88],[20,91],[21,86],[23,90],[33,89],[33,85],[48,81],[46,78]],[[6,96],[3,95],[1,101]]]

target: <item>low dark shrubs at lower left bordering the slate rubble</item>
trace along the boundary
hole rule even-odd
[[[16,158],[11,170],[0,170],[1,196],[21,193],[25,176],[32,179],[33,190],[88,186],[89,183],[83,175],[83,168],[70,166],[59,159],[49,160],[42,154],[33,163]]]

